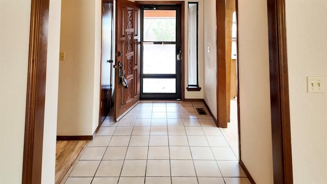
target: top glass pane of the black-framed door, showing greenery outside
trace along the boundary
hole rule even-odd
[[[144,10],[144,41],[176,41],[176,10]]]

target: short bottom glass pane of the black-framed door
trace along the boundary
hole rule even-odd
[[[143,93],[176,93],[176,79],[143,79]]]

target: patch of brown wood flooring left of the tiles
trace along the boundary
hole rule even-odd
[[[57,141],[56,184],[62,181],[86,144],[87,141]]]

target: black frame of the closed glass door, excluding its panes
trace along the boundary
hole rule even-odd
[[[181,100],[181,79],[182,79],[182,67],[181,62],[183,60],[176,59],[176,74],[143,74],[143,18],[144,10],[176,10],[176,52],[182,51],[182,29],[181,29],[181,5],[142,5],[141,6],[141,79],[140,79],[140,99],[141,100]],[[175,42],[158,41],[159,44],[169,44]],[[143,79],[176,79],[176,93],[143,93]]]

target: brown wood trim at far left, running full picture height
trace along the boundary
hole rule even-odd
[[[49,0],[32,0],[22,183],[41,183]]]

